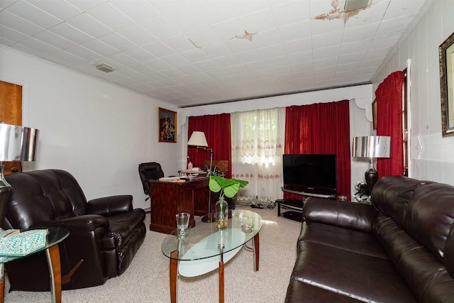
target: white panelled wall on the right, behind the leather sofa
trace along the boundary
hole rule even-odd
[[[454,32],[454,1],[434,0],[408,38],[394,50],[373,80],[373,92],[387,75],[411,60],[410,177],[454,184],[454,136],[441,136],[438,46]]]

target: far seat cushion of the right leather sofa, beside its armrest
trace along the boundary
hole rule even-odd
[[[316,242],[362,255],[387,259],[386,253],[372,233],[362,233],[328,224],[303,222],[298,243],[301,241]]]

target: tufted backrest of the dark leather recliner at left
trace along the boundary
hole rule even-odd
[[[34,170],[6,176],[13,187],[3,228],[29,228],[44,221],[87,214],[87,199],[65,170]]]

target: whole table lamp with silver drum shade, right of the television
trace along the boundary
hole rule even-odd
[[[389,136],[367,136],[353,138],[353,157],[369,158],[370,167],[366,170],[364,177],[369,194],[378,180],[378,173],[374,168],[374,158],[389,158],[391,137]]]

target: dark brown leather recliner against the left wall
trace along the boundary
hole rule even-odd
[[[3,228],[67,228],[60,243],[62,289],[102,285],[125,272],[145,238],[145,211],[131,195],[87,202],[69,172],[35,170],[6,176],[11,204]],[[5,264],[11,290],[50,290],[45,253]]]

